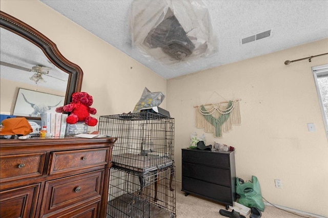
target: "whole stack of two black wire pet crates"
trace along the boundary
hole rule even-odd
[[[151,112],[100,116],[98,131],[117,137],[107,216],[175,217],[174,118]]]

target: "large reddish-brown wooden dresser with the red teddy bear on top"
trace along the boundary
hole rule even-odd
[[[106,217],[115,141],[1,139],[0,217]]]

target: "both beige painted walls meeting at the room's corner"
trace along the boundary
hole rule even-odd
[[[328,59],[283,64],[325,53],[328,39],[166,81],[38,1],[1,0],[0,6],[47,35],[83,69],[82,91],[93,95],[98,116],[132,111],[145,86],[164,92],[161,107],[167,105],[176,122],[178,180],[181,148],[188,147],[191,133],[203,133],[194,127],[193,106],[222,97],[242,99],[242,124],[222,139],[206,134],[207,144],[216,140],[234,146],[237,176],[257,176],[268,201],[328,216],[328,142],[311,72]],[[314,123],[316,132],[308,132],[306,123]],[[275,188],[274,179],[282,181],[282,189]]]

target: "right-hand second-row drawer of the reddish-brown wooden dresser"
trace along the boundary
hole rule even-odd
[[[47,195],[43,199],[44,214],[100,200],[103,192],[101,185],[103,177],[104,170],[98,170],[46,182],[45,193]]]

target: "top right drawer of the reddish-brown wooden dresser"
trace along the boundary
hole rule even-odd
[[[49,175],[105,165],[108,153],[109,148],[52,152]]]

